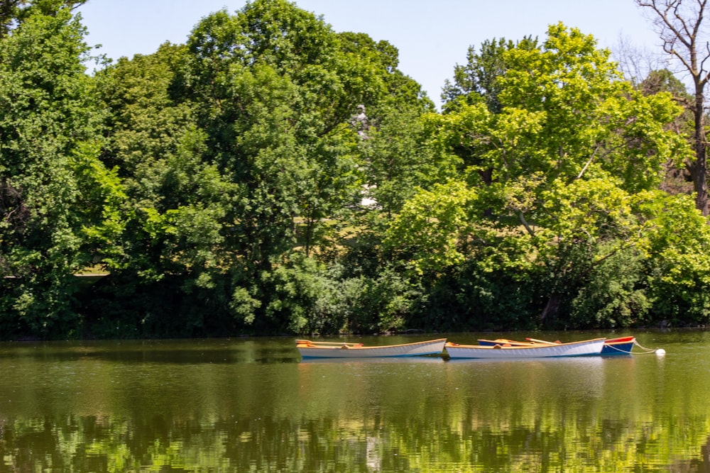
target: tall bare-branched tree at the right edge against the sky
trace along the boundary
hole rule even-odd
[[[677,60],[693,84],[693,100],[687,104],[694,117],[694,161],[689,166],[696,192],[696,206],[704,216],[710,213],[707,190],[707,143],[705,135],[705,86],[710,79],[706,62],[710,41],[703,37],[707,0],[636,0],[650,9],[653,23],[663,41],[663,50]]]

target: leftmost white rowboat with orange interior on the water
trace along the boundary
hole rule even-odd
[[[362,343],[312,342],[296,340],[296,348],[304,358],[364,358],[364,357],[414,357],[441,355],[446,338],[424,342],[367,347]]]

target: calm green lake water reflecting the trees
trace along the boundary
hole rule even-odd
[[[709,331],[535,337],[619,335],[666,355],[302,361],[293,338],[3,343],[0,472],[710,471]]]

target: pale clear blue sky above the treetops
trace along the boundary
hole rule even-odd
[[[484,40],[545,38],[562,21],[613,49],[626,38],[639,50],[658,51],[659,40],[633,0],[297,0],[336,31],[367,33],[400,52],[399,69],[422,84],[439,105],[445,79]],[[89,0],[81,7],[89,45],[112,59],[151,54],[158,45],[185,43],[204,16],[245,0]]]

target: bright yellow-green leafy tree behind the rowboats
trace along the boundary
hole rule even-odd
[[[595,269],[638,245],[643,226],[632,197],[657,187],[665,162],[687,149],[667,128],[679,113],[670,94],[633,90],[609,54],[562,24],[538,48],[503,52],[500,111],[481,97],[437,124],[441,145],[464,158],[460,180],[476,194],[417,196],[417,219],[403,211],[393,223],[393,237],[410,243],[402,256],[442,273],[462,261],[491,274],[521,272],[520,282],[540,284],[532,302],[540,321],[570,322],[559,314],[569,314]],[[437,211],[421,205],[439,199],[447,205]],[[577,313],[574,323],[590,323],[588,315]]]

